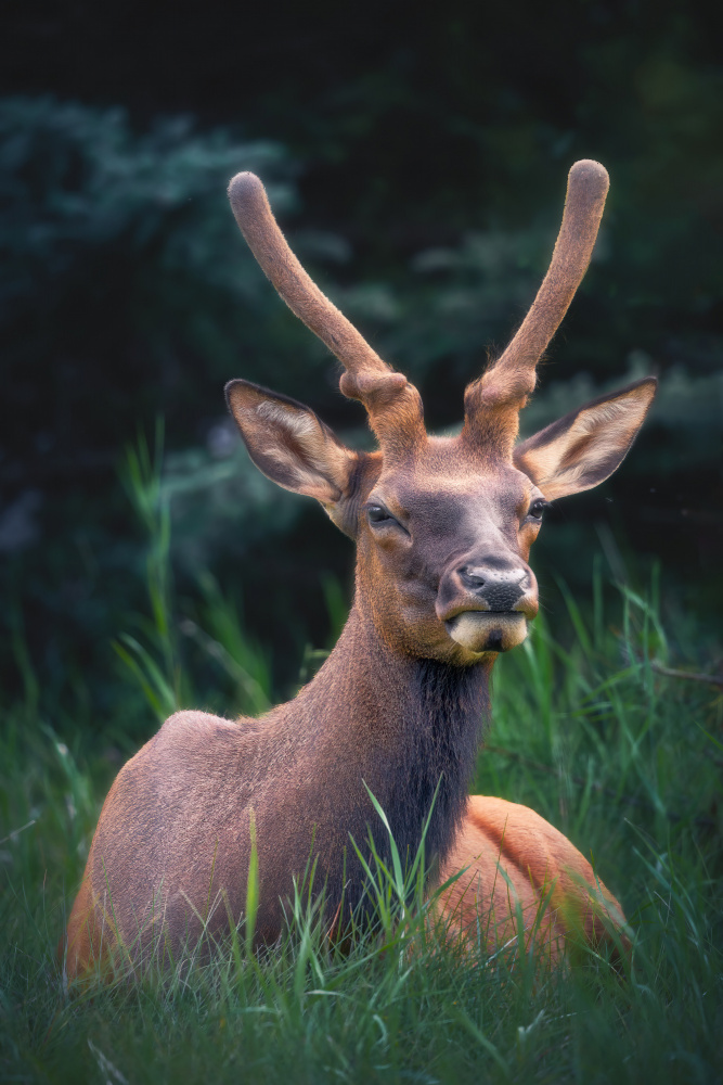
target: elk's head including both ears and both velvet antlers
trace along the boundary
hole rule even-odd
[[[256,465],[315,497],[357,540],[354,604],[395,651],[466,665],[520,643],[538,610],[528,564],[550,501],[607,478],[628,452],[656,390],[646,378],[595,399],[515,445],[537,363],[585,272],[608,176],[576,163],[552,263],[511,344],[465,393],[454,437],[428,435],[422,400],[311,281],[253,174],[229,195],[261,268],[291,309],[345,367],[341,392],[366,408],[379,448],[347,448],[302,404],[250,384],[227,385]]]

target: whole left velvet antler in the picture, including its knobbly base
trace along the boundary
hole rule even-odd
[[[422,400],[403,373],[379,358],[352,323],[310,279],[288,247],[255,174],[236,174],[229,199],[241,232],[289,309],[326,344],[346,372],[339,387],[360,399],[385,446],[409,445],[422,425]]]

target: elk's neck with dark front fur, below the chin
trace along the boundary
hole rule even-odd
[[[314,773],[338,796],[344,807],[338,824],[349,827],[358,844],[371,828],[378,853],[389,853],[364,781],[385,810],[402,857],[414,857],[437,792],[425,854],[428,860],[444,857],[475,771],[490,669],[489,663],[459,667],[393,652],[352,608],[334,651],[300,699],[315,720]]]

